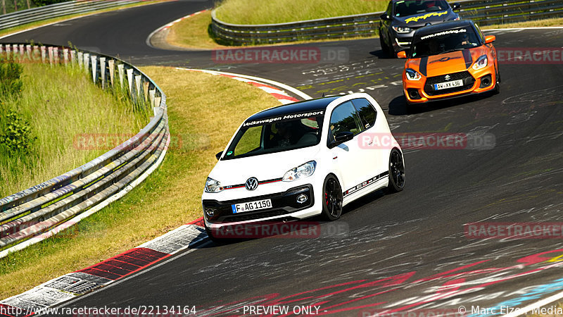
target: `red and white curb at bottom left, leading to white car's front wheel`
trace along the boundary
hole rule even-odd
[[[100,287],[137,273],[184,249],[196,249],[206,241],[203,218],[167,232],[139,247],[80,271],[53,278],[22,294],[0,301],[0,316],[32,316]]]

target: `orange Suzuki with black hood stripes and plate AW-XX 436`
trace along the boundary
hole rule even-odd
[[[403,71],[407,104],[500,92],[493,35],[472,20],[429,25],[415,32]],[[405,51],[397,54],[407,58]]]

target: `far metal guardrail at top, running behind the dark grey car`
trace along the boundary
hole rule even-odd
[[[480,26],[563,16],[562,0],[466,0],[460,1],[462,18]],[[336,18],[264,25],[236,25],[211,12],[211,29],[221,42],[233,45],[272,44],[310,39],[362,37],[377,34],[383,12]]]

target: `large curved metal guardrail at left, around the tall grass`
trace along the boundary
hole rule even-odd
[[[80,67],[103,88],[121,87],[135,104],[153,107],[141,131],[89,163],[0,199],[0,258],[22,249],[37,235],[113,201],[162,161],[170,144],[166,96],[151,78],[124,61],[65,46],[0,44],[0,54],[22,60]],[[143,178],[141,178],[142,180]],[[29,240],[25,242],[25,240]],[[24,242],[24,243],[20,243]],[[38,242],[38,241],[33,241]]]

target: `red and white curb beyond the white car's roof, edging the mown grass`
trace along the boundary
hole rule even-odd
[[[217,70],[203,70],[203,69],[179,68],[179,67],[177,67],[176,69],[203,72],[211,75],[220,75],[220,76],[232,78],[234,80],[239,80],[241,82],[247,82],[248,84],[253,85],[254,87],[258,87],[262,89],[268,94],[271,94],[281,104],[291,104],[292,102],[299,101],[295,97],[291,97],[291,95],[289,95],[286,91],[289,91],[292,94],[295,94],[296,96],[301,97],[305,100],[311,99],[311,97],[308,94],[305,94],[304,92],[301,92],[296,88],[282,84],[281,82],[276,82],[274,80],[267,80],[265,78],[241,75],[235,73],[224,73]]]

